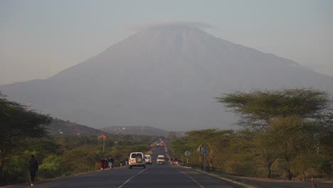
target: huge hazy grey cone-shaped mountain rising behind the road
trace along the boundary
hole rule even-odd
[[[90,127],[232,128],[215,97],[236,90],[312,87],[333,77],[191,26],[149,28],[46,80],[0,85],[9,99]]]

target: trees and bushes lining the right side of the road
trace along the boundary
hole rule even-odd
[[[172,137],[172,153],[206,171],[306,180],[329,177],[333,164],[333,110],[329,95],[312,88],[255,90],[216,98],[238,115],[237,130],[194,130]]]

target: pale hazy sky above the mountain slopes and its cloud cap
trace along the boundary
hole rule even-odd
[[[164,21],[206,23],[213,36],[333,76],[331,0],[0,0],[0,84],[48,78]]]

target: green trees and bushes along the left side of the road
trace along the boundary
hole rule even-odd
[[[0,93],[1,95],[1,93]],[[102,157],[115,158],[115,167],[130,152],[146,152],[159,137],[108,135],[103,141],[95,136],[63,135],[51,137],[48,124],[53,120],[27,110],[26,106],[0,96],[0,185],[29,182],[28,161],[34,154],[39,163],[38,180],[100,169]]]

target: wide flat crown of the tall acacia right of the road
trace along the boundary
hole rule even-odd
[[[314,117],[331,103],[327,92],[312,88],[236,92],[216,100],[240,115],[240,125],[267,125],[278,116]]]

